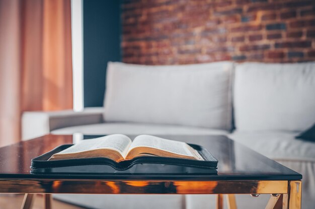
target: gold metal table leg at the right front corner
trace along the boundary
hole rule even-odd
[[[289,181],[288,209],[301,209],[302,181]]]

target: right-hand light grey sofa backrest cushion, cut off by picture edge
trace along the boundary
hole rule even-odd
[[[303,131],[315,122],[315,62],[235,67],[238,130]]]

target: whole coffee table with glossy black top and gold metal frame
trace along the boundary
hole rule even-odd
[[[32,158],[73,140],[72,135],[45,135],[0,148],[0,193],[25,193],[22,208],[31,208],[36,193],[45,194],[46,208],[52,193],[216,194],[219,209],[224,194],[232,209],[237,208],[233,194],[268,193],[266,208],[301,208],[301,174],[246,146],[225,136],[161,137],[206,147],[219,161],[218,173],[184,167],[155,172],[154,165],[142,164],[122,172],[31,174]]]

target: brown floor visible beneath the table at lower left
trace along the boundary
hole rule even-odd
[[[24,194],[0,194],[0,209],[21,208]],[[32,209],[43,209],[44,199],[42,195],[36,195]],[[84,207],[67,204],[58,200],[52,201],[53,209],[85,209]]]

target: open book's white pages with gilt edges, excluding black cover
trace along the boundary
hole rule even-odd
[[[150,135],[139,135],[131,141],[128,136],[123,134],[80,141],[53,154],[49,160],[105,157],[115,162],[121,162],[141,156],[204,160],[197,150],[185,142]]]

